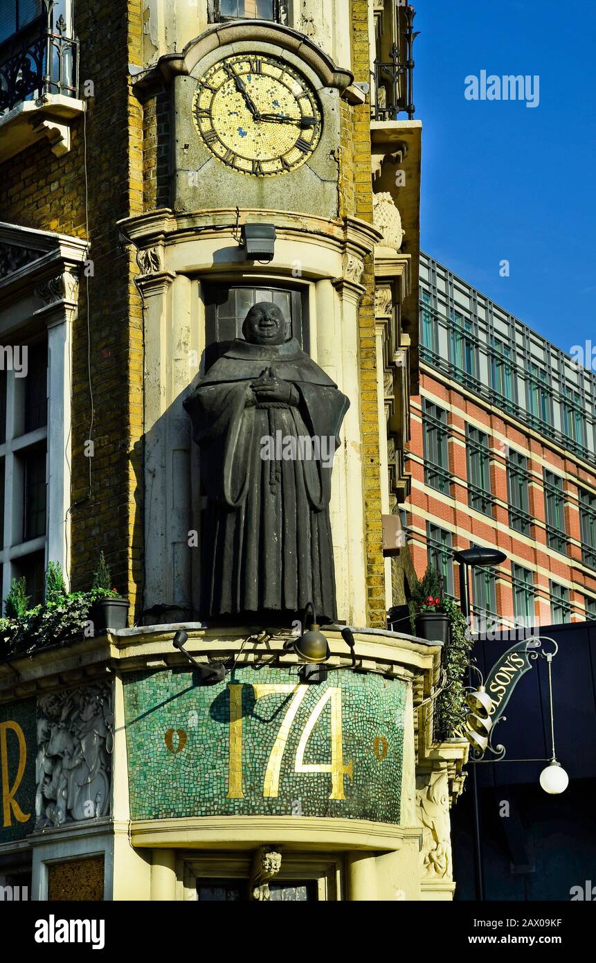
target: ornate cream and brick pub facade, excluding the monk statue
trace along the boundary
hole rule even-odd
[[[5,372],[3,592],[21,579],[43,605],[50,562],[85,591],[103,551],[130,611],[60,645],[5,642],[5,884],[37,899],[452,898],[467,748],[433,733],[440,645],[386,630],[406,593],[418,378],[413,11],[10,6],[0,330],[28,372]],[[350,401],[319,685],[283,619],[199,617],[209,466],[183,403],[263,301]]]

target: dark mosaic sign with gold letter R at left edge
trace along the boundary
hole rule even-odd
[[[36,700],[0,705],[0,844],[32,832],[36,806]]]

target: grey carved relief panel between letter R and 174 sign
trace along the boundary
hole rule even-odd
[[[109,815],[113,743],[110,683],[39,697],[36,828]]]

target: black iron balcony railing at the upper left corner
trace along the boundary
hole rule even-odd
[[[66,37],[62,14],[54,23],[56,0],[43,0],[43,6],[38,20],[0,46],[0,117],[23,100],[77,95],[79,42]]]

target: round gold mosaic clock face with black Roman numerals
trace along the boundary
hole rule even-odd
[[[321,137],[315,91],[269,55],[237,54],[210,67],[196,88],[193,116],[218,160],[257,177],[300,167]]]

